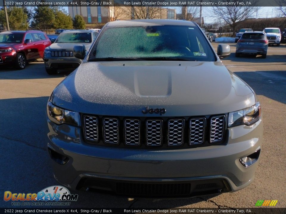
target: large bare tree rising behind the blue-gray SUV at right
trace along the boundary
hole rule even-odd
[[[246,1],[241,0],[246,5]],[[251,7],[233,6],[233,7],[213,7],[213,13],[217,18],[223,19],[232,29],[233,35],[237,30],[237,25],[241,21],[251,18],[257,11],[257,0],[251,2]]]

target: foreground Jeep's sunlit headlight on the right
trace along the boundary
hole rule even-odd
[[[229,127],[237,125],[251,125],[257,122],[261,117],[260,103],[257,102],[254,106],[244,108],[240,111],[234,111],[229,113]]]

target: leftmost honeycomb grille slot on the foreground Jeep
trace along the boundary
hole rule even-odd
[[[84,133],[87,140],[98,142],[97,117],[84,116]]]

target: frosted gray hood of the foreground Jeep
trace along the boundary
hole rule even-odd
[[[87,114],[164,117],[222,114],[255,104],[254,92],[221,62],[83,62],[54,90],[52,103]]]

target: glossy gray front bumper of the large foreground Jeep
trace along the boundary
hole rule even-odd
[[[240,190],[254,180],[258,161],[244,167],[239,160],[261,149],[263,133],[259,120],[250,127],[229,128],[226,145],[168,150],[99,146],[86,143],[80,127],[56,125],[49,119],[48,127],[50,157],[68,158],[63,165],[51,161],[58,182],[71,189],[93,188],[124,196],[138,186],[160,189],[160,185],[185,183],[191,186],[188,197]],[[129,192],[121,194],[118,185]],[[195,191],[197,185],[205,188]]]

